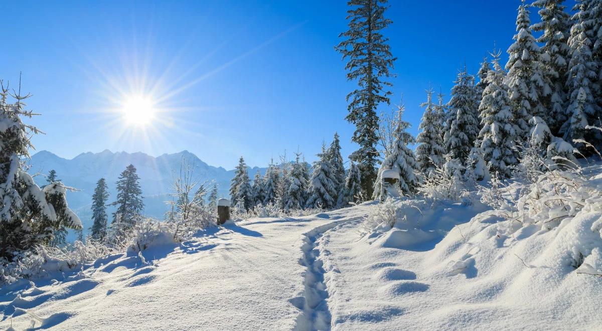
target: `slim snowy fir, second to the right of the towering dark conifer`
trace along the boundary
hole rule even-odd
[[[418,147],[416,147],[417,170],[425,175],[432,172],[436,166],[443,164],[444,154],[438,114],[435,113],[435,105],[432,99],[433,90],[430,88],[426,90],[426,102],[420,105],[425,108],[422,121],[418,126],[421,132],[416,139],[418,143]]]

